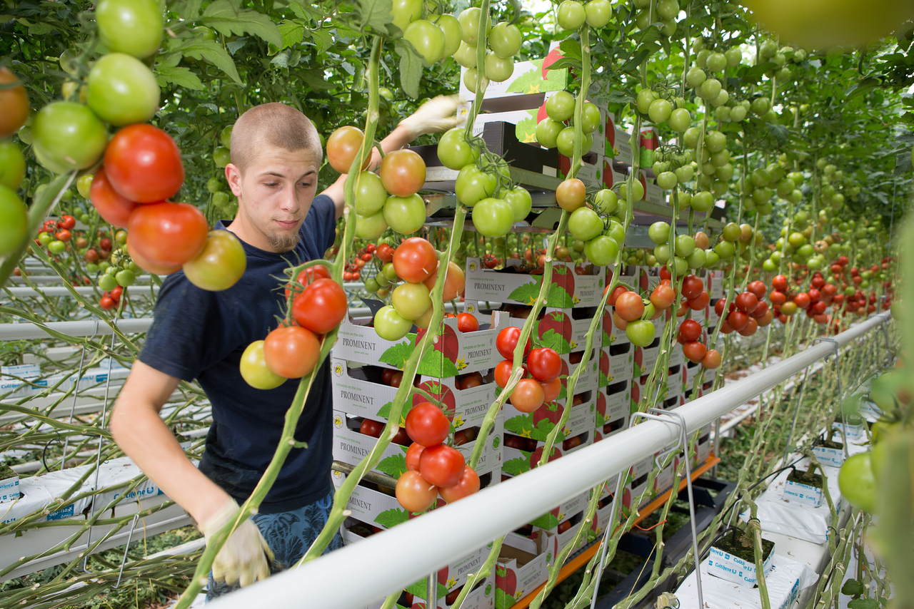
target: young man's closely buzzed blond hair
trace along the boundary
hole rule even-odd
[[[235,121],[231,131],[232,164],[244,173],[263,146],[290,152],[311,151],[318,162],[324,158],[314,124],[301,111],[279,102],[254,106]]]

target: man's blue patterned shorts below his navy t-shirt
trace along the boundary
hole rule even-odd
[[[333,503],[334,494],[330,493],[324,499],[314,501],[303,508],[276,514],[255,514],[250,517],[273,551],[271,575],[285,571],[304,556],[304,552],[314,543],[318,533],[324,529],[324,523],[327,521]],[[324,550],[324,554],[342,547],[343,539],[337,532],[333,541]],[[229,585],[225,582],[214,581],[213,573],[210,572],[207,601],[234,592],[239,588],[238,583]]]

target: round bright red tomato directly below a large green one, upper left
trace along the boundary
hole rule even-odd
[[[165,131],[143,122],[124,127],[108,142],[105,173],[118,194],[137,203],[165,201],[184,184],[177,144]]]

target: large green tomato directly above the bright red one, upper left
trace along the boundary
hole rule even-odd
[[[96,115],[117,127],[153,118],[159,107],[159,85],[153,71],[125,53],[109,53],[89,72],[86,103]]]

